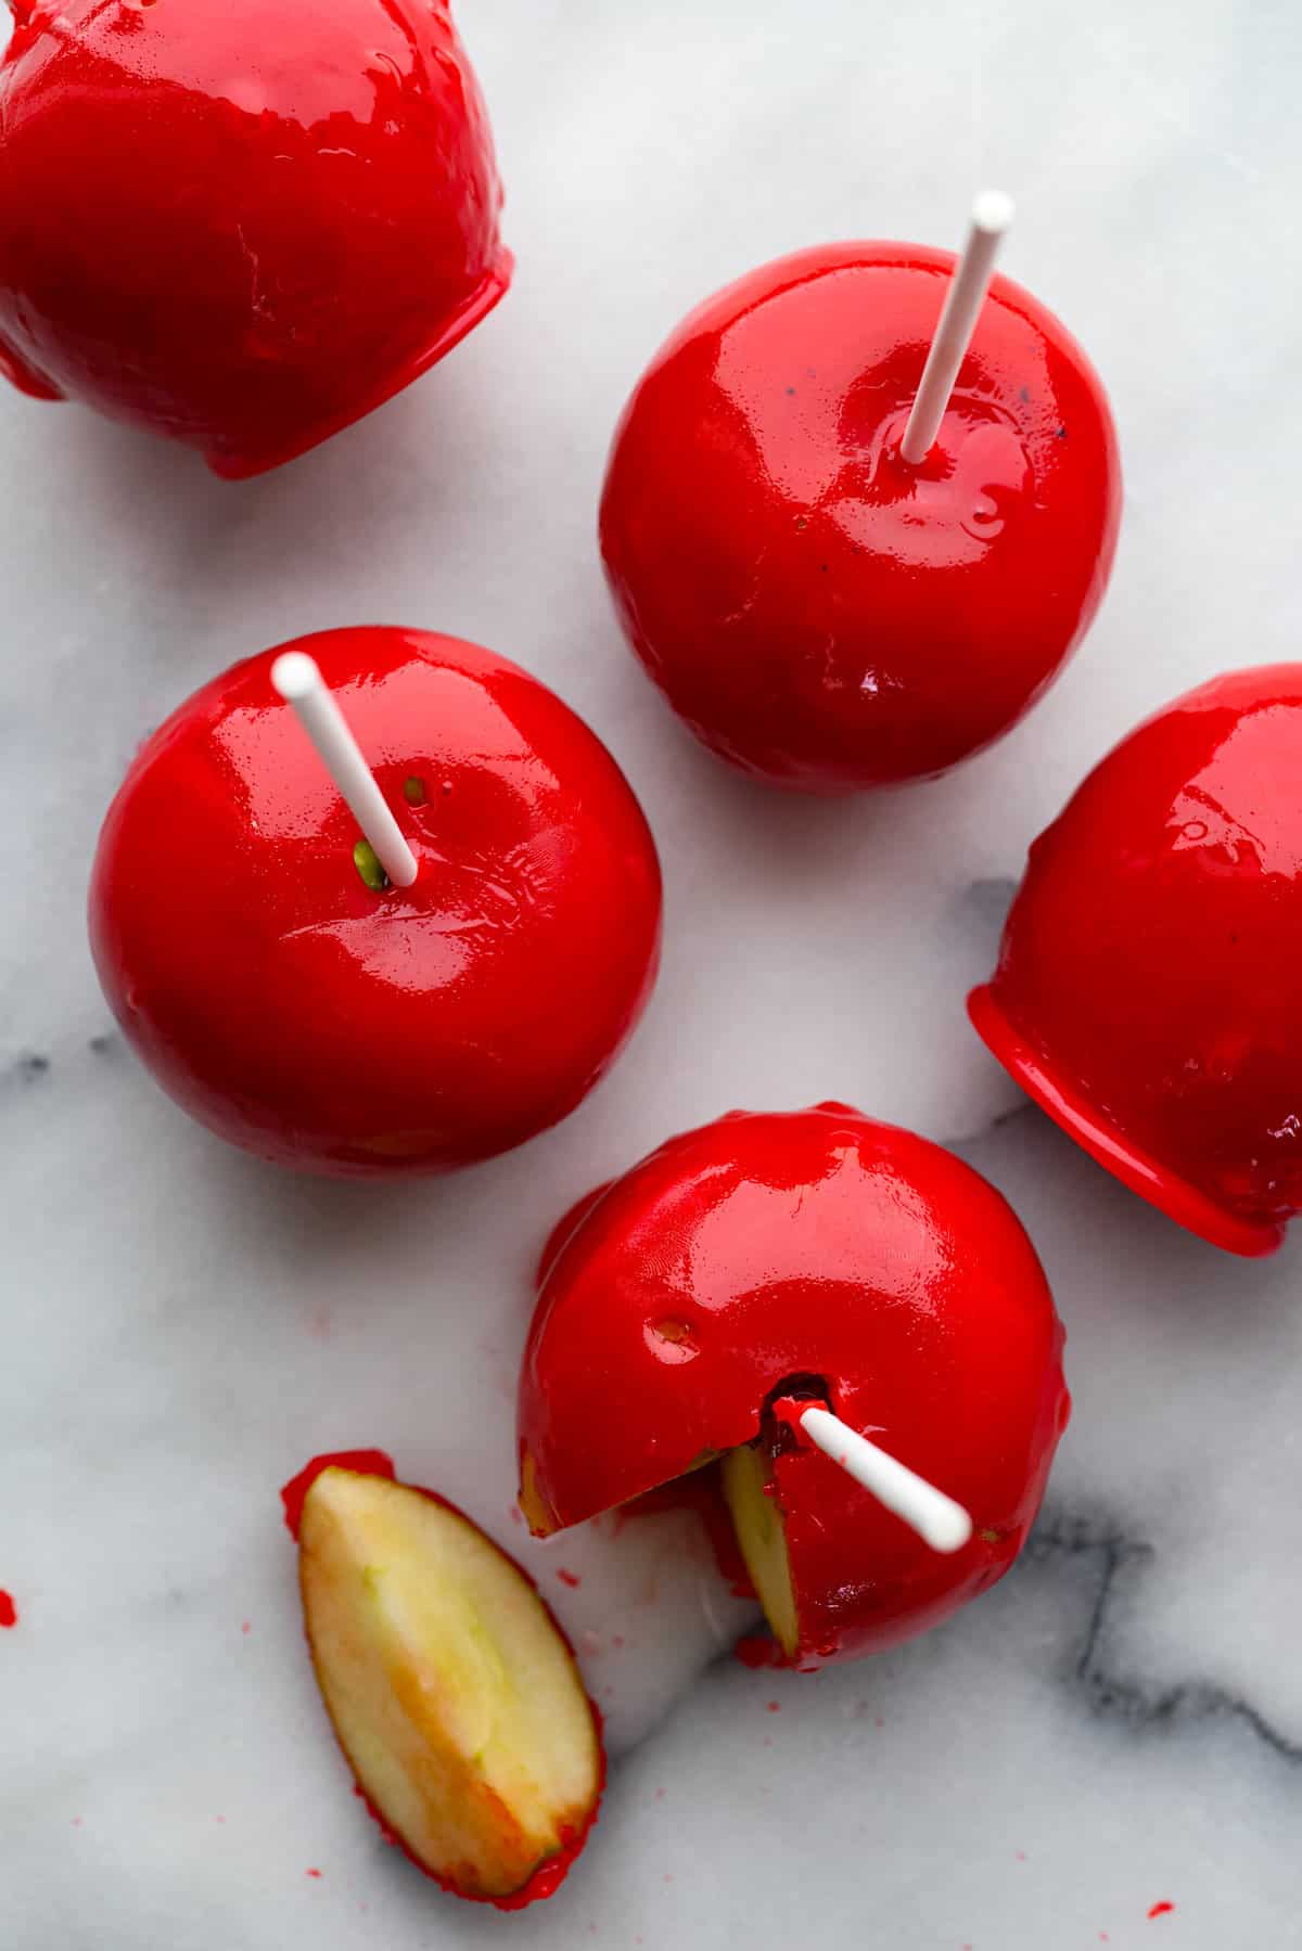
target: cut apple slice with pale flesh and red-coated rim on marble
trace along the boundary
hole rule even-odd
[[[330,1459],[305,1494],[297,1485],[312,1664],[373,1812],[459,1896],[550,1896],[595,1820],[605,1764],[549,1608],[429,1491]]]

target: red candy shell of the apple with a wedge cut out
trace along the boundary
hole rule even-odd
[[[775,1430],[798,1377],[960,1498],[972,1541],[939,1557]],[[763,1424],[816,1666],[925,1631],[1009,1569],[1068,1409],[1044,1274],[984,1178],[847,1106],[734,1112],[617,1178],[552,1260],[519,1381],[521,1506],[539,1532],[580,1524]]]

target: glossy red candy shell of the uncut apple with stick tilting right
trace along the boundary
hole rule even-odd
[[[941,773],[1021,718],[1109,577],[1103,388],[996,277],[931,455],[898,455],[953,254],[830,244],[695,310],[625,408],[601,552],[670,704],[757,778]]]

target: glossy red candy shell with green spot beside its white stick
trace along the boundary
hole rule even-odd
[[[295,648],[394,808],[414,886],[363,884],[265,652],[182,704],[109,808],[90,888],[103,991],[164,1091],[264,1159],[431,1173],[519,1145],[574,1110],[650,993],[642,812],[506,657],[388,628]]]

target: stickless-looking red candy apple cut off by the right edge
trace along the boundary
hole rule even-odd
[[[1302,1208],[1300,780],[1302,663],[1177,698],[1035,841],[968,1003],[1099,1163],[1243,1254]]]

